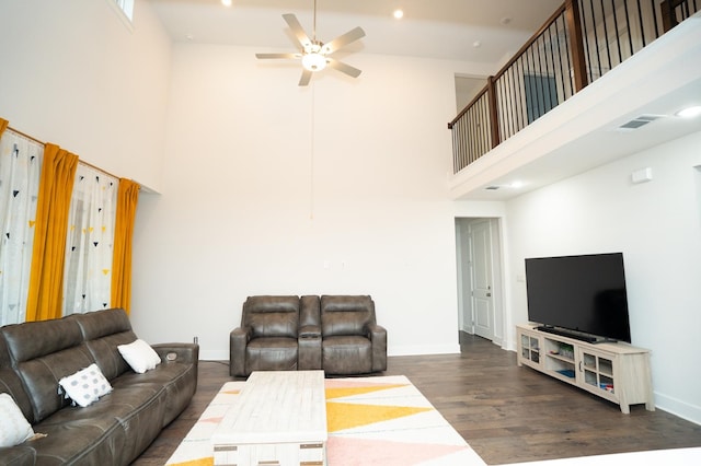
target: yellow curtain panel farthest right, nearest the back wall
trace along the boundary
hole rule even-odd
[[[119,178],[112,259],[112,306],[122,307],[127,314],[131,302],[131,244],[138,200],[139,184]]]

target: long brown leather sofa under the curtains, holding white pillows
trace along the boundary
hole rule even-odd
[[[124,310],[0,327],[0,393],[45,436],[0,447],[0,465],[128,465],[189,404],[199,347],[152,348],[161,363],[135,373],[117,346],[137,339]],[[113,389],[87,407],[59,394],[59,380],[96,363]]]

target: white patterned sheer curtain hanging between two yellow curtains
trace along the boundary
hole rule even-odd
[[[118,183],[78,164],[66,240],[64,315],[110,307]]]

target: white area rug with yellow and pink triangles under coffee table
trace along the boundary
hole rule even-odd
[[[211,438],[244,382],[228,382],[168,461],[214,465]],[[326,378],[329,466],[485,465],[403,375]]]

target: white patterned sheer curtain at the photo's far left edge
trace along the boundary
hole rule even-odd
[[[11,129],[0,138],[0,325],[26,317],[44,144]]]

